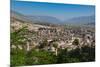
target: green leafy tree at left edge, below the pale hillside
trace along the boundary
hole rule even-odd
[[[15,45],[18,48],[18,45],[24,45],[26,43],[26,37],[24,36],[26,27],[23,27],[17,31],[11,33],[11,45]]]

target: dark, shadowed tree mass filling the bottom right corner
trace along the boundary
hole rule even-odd
[[[67,49],[60,50],[57,56],[57,63],[75,63],[75,62],[90,62],[95,61],[95,48],[84,46],[82,52],[76,48],[71,51]]]

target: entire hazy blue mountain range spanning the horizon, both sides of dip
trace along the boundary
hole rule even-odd
[[[52,23],[52,24],[95,24],[95,15],[80,16],[61,21],[56,17],[51,16],[26,16],[15,11],[11,11],[11,17],[32,22],[32,23]]]

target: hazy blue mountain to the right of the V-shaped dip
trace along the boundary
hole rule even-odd
[[[92,23],[92,24],[95,24],[95,15],[71,18],[69,20],[64,21],[64,23],[70,23],[70,24],[88,24],[88,23],[91,24]]]

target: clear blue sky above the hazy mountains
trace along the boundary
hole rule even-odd
[[[29,16],[52,16],[60,20],[95,14],[95,6],[93,5],[26,2],[16,0],[12,0],[11,10]]]

